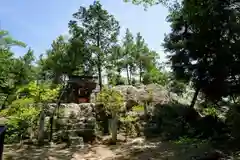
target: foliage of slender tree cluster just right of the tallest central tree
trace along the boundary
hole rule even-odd
[[[137,83],[136,76],[139,76],[139,82],[142,83],[143,75],[151,68],[157,68],[158,58],[158,54],[148,48],[140,33],[134,38],[130,30],[126,29],[122,44],[114,46],[108,57],[108,74],[120,76],[125,71],[129,85]]]

